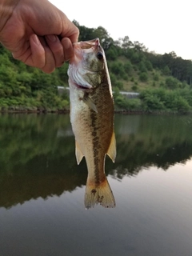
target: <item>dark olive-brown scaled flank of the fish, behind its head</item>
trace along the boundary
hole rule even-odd
[[[105,89],[106,88],[106,89]],[[97,92],[93,95],[93,102],[97,107],[98,113],[90,110],[90,137],[92,138],[93,153],[94,153],[94,175],[97,183],[100,183],[103,178],[103,166],[105,161],[105,154],[110,146],[110,140],[114,129],[114,120],[111,118],[111,111],[113,113],[114,105],[111,102],[110,92],[107,86],[102,84],[98,87]],[[105,91],[106,90],[106,91]],[[89,168],[89,167],[88,167]]]

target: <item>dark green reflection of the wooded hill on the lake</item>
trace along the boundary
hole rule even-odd
[[[106,159],[106,174],[122,179],[143,167],[185,163],[192,155],[191,127],[187,116],[116,115],[118,155],[115,163]],[[86,162],[76,164],[68,115],[4,114],[0,131],[0,207],[86,184]]]

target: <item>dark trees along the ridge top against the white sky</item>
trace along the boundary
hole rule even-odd
[[[192,84],[191,60],[178,57],[174,51],[163,55],[156,54],[155,52],[149,52],[146,46],[138,41],[131,42],[129,36],[114,41],[102,26],[94,29],[80,26],[76,21],[74,21],[74,24],[80,30],[80,41],[100,38],[108,60],[115,60],[119,55],[124,55],[136,65],[144,61],[146,62],[146,68],[149,70],[158,68],[163,70],[163,74],[171,74],[181,82]]]

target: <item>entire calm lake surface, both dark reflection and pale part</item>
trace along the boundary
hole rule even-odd
[[[192,117],[115,115],[116,207],[86,210],[66,114],[0,115],[0,256],[191,256]]]

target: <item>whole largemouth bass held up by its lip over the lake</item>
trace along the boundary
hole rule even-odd
[[[98,203],[115,207],[114,194],[105,174],[106,154],[114,162],[114,98],[105,52],[99,38],[74,43],[68,68],[70,122],[78,164],[86,158],[88,170],[85,206]]]

